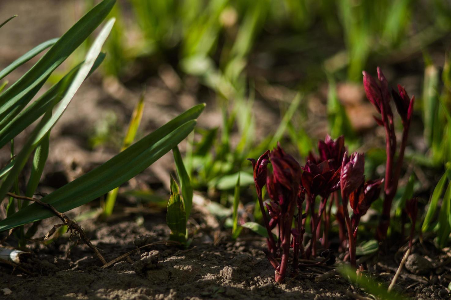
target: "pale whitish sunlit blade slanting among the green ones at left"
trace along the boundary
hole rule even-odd
[[[110,19],[110,21],[108,21],[106,25],[101,29],[101,32],[93,42],[86,55],[86,60],[81,65],[80,69],[77,72],[77,75],[75,75],[74,81],[70,84],[67,92],[64,94],[64,97],[61,100],[60,105],[56,108],[55,113],[51,115],[49,112],[47,112],[41,122],[39,122],[37,127],[33,130],[22,150],[17,155],[16,163],[14,164],[13,169],[9,171],[9,174],[6,176],[5,180],[0,186],[0,198],[5,197],[5,194],[9,191],[9,188],[13,184],[14,178],[18,176],[19,172],[25,166],[25,163],[27,162],[31,152],[37,147],[41,139],[44,138],[44,136],[52,129],[52,127],[60,119],[63,112],[66,110],[69,102],[74,97],[75,92],[77,92],[78,88],[80,88],[84,79],[87,77],[89,71],[94,65],[97,56],[100,54],[101,47],[108,37],[111,28],[113,27],[114,21],[114,19]],[[46,117],[47,115],[48,118]]]

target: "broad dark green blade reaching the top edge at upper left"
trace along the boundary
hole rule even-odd
[[[25,106],[22,98],[42,84],[46,78],[100,25],[115,0],[103,0],[56,42],[41,59],[18,81],[0,95],[0,120],[17,105]],[[37,92],[37,91],[36,91]],[[30,99],[31,100],[31,99]]]

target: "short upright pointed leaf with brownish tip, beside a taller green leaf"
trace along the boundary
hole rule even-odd
[[[186,215],[182,197],[179,193],[179,186],[175,180],[170,178],[170,198],[166,213],[166,224],[170,228],[170,240],[186,244]]]

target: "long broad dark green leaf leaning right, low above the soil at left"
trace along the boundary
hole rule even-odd
[[[101,166],[64,185],[41,200],[65,212],[109,192],[145,170],[193,130],[205,104],[194,106],[148,134]],[[35,222],[53,214],[33,203],[0,221],[0,231]]]

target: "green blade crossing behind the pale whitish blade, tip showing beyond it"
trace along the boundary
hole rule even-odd
[[[105,53],[99,54],[88,76],[97,69],[104,58]],[[21,111],[13,120],[9,121],[0,130],[0,148],[9,143],[12,138],[21,133],[28,126],[32,125],[32,123],[39,119],[41,115],[46,113],[46,111],[50,110],[62,100],[63,97],[61,97],[61,95],[67,92],[70,84],[73,82],[75,75],[77,74],[77,71],[80,69],[80,66],[81,64],[70,70],[70,72],[66,74],[58,83],[55,83],[41,97]],[[2,124],[1,121],[0,124]]]

